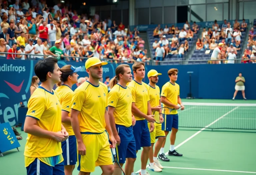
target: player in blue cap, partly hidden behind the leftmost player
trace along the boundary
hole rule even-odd
[[[74,94],[71,89],[73,84],[77,83],[77,72],[81,70],[81,66],[75,68],[71,65],[63,66],[60,71],[61,82],[57,83],[56,92],[58,93],[61,104],[61,122],[66,128],[69,138],[61,142],[62,156],[64,158],[65,175],[72,175],[77,162],[76,137],[70,122],[70,111],[72,106],[72,96]],[[63,83],[61,85],[61,83]]]

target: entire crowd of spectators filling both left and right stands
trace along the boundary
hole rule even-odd
[[[58,3],[48,7],[45,0],[30,3],[16,0],[14,4],[10,0],[0,0],[0,8],[0,52],[9,53],[0,54],[0,57],[24,60],[53,55],[59,60],[82,62],[85,57],[95,56],[124,63],[151,60],[139,31],[136,28],[130,31],[122,22],[116,24],[110,17],[100,20],[98,13],[94,16],[78,15],[71,4]],[[244,63],[254,63],[255,60],[250,60],[256,57],[254,28],[249,31],[247,49],[241,50],[242,32],[246,29],[245,20],[241,24],[236,20],[233,26],[226,20],[222,25],[215,20],[212,27],[203,29],[196,50],[213,51],[222,42],[225,45],[220,59],[241,57]],[[158,25],[153,31],[155,60],[162,61],[172,55],[183,58],[190,49],[189,41],[193,41],[198,32],[196,22],[190,26],[186,21],[182,28],[166,25],[162,29]]]

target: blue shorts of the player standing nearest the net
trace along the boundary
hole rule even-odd
[[[178,129],[179,116],[178,114],[164,115],[164,122],[162,123],[163,131],[171,131],[172,128]]]

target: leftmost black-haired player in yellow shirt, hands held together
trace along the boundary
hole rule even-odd
[[[61,71],[53,57],[40,60],[35,74],[42,84],[28,101],[24,131],[28,133],[25,145],[27,174],[64,175],[61,142],[68,132],[61,124],[61,105],[53,86],[60,82]]]

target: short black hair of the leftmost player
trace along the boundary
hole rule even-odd
[[[36,63],[34,71],[41,82],[45,82],[47,80],[48,72],[53,73],[54,66],[57,62],[58,60],[56,58],[49,56]]]

